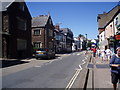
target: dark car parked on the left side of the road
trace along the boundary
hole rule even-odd
[[[53,49],[49,49],[49,48],[40,48],[36,50],[35,53],[35,58],[39,59],[39,58],[55,58],[55,51]]]

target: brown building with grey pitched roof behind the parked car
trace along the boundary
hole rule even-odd
[[[33,49],[50,48],[54,50],[54,26],[50,15],[32,18]]]

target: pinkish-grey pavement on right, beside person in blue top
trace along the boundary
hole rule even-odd
[[[100,57],[92,57],[87,68],[86,88],[93,90],[113,90],[109,60],[102,60]],[[118,85],[118,90],[120,90],[119,87],[120,84]]]

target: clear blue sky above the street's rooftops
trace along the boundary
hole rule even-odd
[[[53,24],[62,23],[61,28],[70,28],[77,37],[98,35],[98,14],[110,11],[118,2],[26,2],[32,17],[50,12]]]

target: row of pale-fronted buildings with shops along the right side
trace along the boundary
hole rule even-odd
[[[110,48],[115,52],[116,47],[120,46],[120,39],[116,39],[116,37],[119,37],[119,15],[120,5],[115,6],[108,13],[98,14],[97,21],[100,48],[102,47],[104,50]]]

